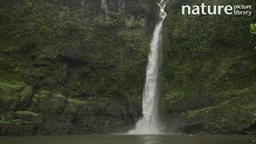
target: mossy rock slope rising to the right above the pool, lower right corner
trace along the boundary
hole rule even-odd
[[[226,95],[230,100],[217,106],[201,110],[190,110],[186,113],[188,124],[184,130],[198,125],[199,129],[216,134],[242,133],[255,130],[256,126],[256,85],[244,90],[230,90]],[[233,97],[233,98],[231,98]]]

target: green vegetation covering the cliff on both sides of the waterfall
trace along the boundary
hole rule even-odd
[[[0,135],[106,134],[142,115],[157,0],[1,0]],[[256,15],[182,15],[163,23],[162,94],[178,131],[256,134]],[[170,124],[170,123],[169,123]]]

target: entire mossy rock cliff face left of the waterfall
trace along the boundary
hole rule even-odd
[[[134,123],[155,1],[0,4],[0,134],[102,134]]]

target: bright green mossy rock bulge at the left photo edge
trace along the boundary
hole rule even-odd
[[[1,110],[23,110],[30,105],[32,87],[24,83],[0,82]]]

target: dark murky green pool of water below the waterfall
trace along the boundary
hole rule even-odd
[[[79,135],[0,137],[0,144],[250,144],[243,135]]]

